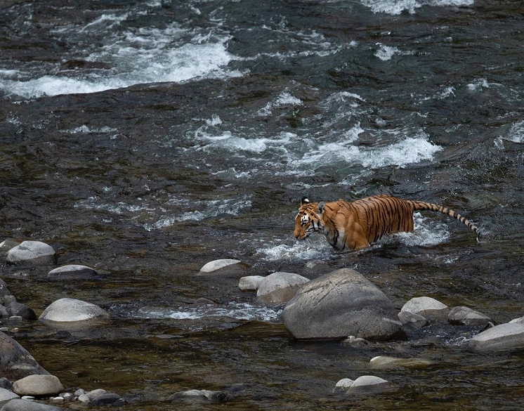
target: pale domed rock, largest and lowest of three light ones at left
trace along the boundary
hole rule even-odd
[[[40,320],[57,322],[100,320],[105,318],[110,318],[110,315],[99,306],[69,298],[56,300],[39,317]]]

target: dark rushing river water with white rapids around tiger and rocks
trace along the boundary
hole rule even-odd
[[[366,350],[289,337],[240,275],[359,270],[507,322],[523,312],[524,3],[480,0],[0,3],[0,237],[42,240],[100,279],[4,266],[37,313],[69,296],[112,313],[18,341],[67,387],[166,405],[243,384],[232,409],[520,410],[521,351],[433,324]],[[480,226],[416,217],[413,234],[336,254],[292,238],[299,199],[375,193],[444,204]],[[197,277],[213,259],[238,275]],[[322,261],[308,271],[306,263]],[[196,307],[199,297],[215,307]],[[375,355],[426,369],[371,370]],[[351,398],[341,378],[398,389]],[[206,405],[207,408],[223,405]]]

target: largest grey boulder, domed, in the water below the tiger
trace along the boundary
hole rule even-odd
[[[283,312],[284,326],[296,339],[368,340],[405,338],[397,311],[372,282],[341,268],[307,282]]]

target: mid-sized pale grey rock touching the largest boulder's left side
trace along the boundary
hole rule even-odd
[[[308,278],[294,273],[277,272],[268,275],[258,285],[256,301],[259,304],[278,306],[292,299]]]

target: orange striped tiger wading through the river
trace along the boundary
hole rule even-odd
[[[353,251],[369,247],[384,235],[412,232],[413,212],[424,210],[457,218],[478,234],[477,226],[447,207],[381,194],[353,202],[310,202],[303,197],[293,235],[297,240],[306,240],[311,233],[321,233],[337,251]]]

